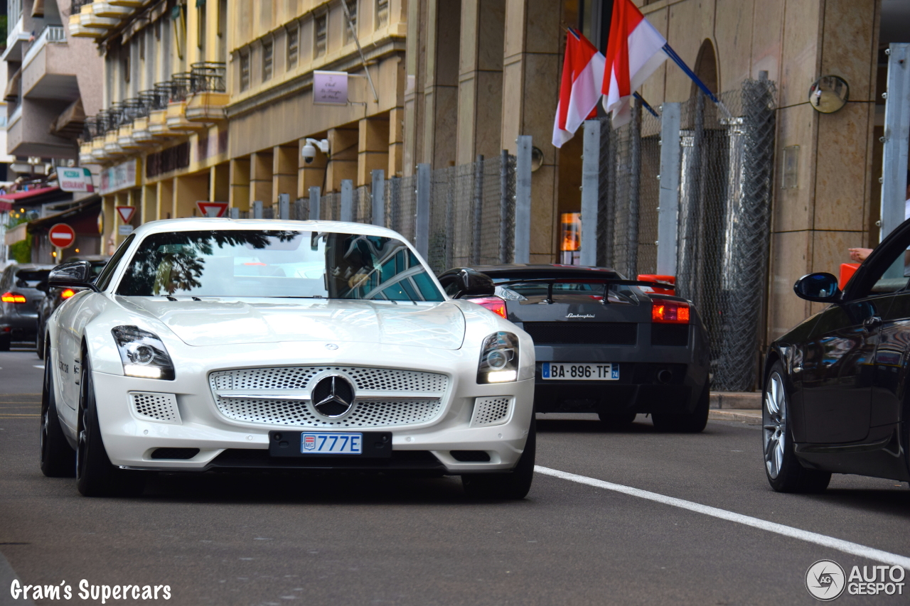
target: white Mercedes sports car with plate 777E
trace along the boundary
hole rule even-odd
[[[334,221],[154,221],[45,338],[41,469],[86,495],[150,472],[419,470],[521,499],[534,468],[534,348],[444,294],[394,231]]]

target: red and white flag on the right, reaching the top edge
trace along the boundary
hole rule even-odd
[[[612,112],[613,128],[629,122],[629,98],[669,56],[666,39],[632,4],[614,0],[603,75],[603,108]]]

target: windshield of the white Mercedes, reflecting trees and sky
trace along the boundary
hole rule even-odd
[[[117,294],[393,301],[445,298],[410,249],[391,237],[288,230],[151,234]]]

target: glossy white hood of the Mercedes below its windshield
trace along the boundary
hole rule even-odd
[[[451,303],[248,298],[170,301],[121,297],[134,312],[164,322],[187,345],[356,341],[458,349],[465,320]]]

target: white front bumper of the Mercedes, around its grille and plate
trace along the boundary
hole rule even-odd
[[[93,379],[98,421],[107,456],[115,465],[136,470],[440,469],[451,474],[506,471],[511,470],[521,457],[533,414],[533,379],[478,385],[473,380],[460,380],[455,375],[450,379],[450,392],[437,419],[421,425],[363,428],[392,433],[391,459],[364,459],[359,460],[359,464],[351,458],[278,460],[268,456],[269,429],[317,428],[227,419],[217,410],[205,372],[178,371],[177,379],[164,381],[94,371]],[[130,391],[176,394],[181,422],[168,424],[138,419],[128,396]],[[471,427],[474,399],[496,396],[513,398],[506,422]],[[198,453],[187,460],[153,459],[152,453],[163,448],[198,449]],[[490,460],[456,460],[452,450],[483,450]],[[428,459],[428,455],[432,459]]]

